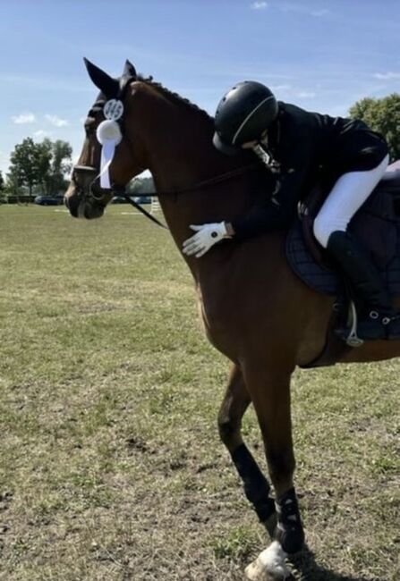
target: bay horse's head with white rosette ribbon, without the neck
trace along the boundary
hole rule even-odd
[[[127,60],[121,77],[114,79],[84,61],[100,93],[85,120],[86,138],[64,200],[74,217],[91,219],[103,215],[115,192],[147,164],[140,139],[132,142],[131,131],[126,131],[128,124],[132,127],[132,83],[138,79],[134,66]]]

